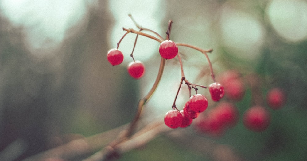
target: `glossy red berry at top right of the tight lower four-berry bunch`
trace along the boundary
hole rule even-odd
[[[195,112],[203,112],[208,107],[208,100],[202,94],[196,94],[190,97],[189,107]]]

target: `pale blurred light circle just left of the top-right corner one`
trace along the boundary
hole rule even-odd
[[[265,29],[257,17],[224,6],[220,17],[221,43],[231,54],[243,60],[259,57]]]

